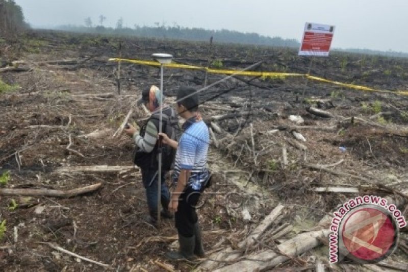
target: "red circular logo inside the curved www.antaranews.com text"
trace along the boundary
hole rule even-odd
[[[377,262],[396,248],[398,229],[387,210],[363,205],[343,218],[340,236],[343,255],[358,261]]]

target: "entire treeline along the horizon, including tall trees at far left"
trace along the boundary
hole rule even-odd
[[[116,28],[107,28],[103,26],[105,16],[100,15],[100,25],[93,27],[90,17],[85,19],[85,26],[60,26],[55,29],[82,32],[82,33],[97,33],[108,35],[126,35],[138,36],[147,38],[161,38],[174,40],[189,40],[189,41],[214,41],[221,43],[241,43],[253,45],[267,45],[276,47],[292,47],[299,48],[300,43],[296,39],[283,39],[281,37],[268,37],[258,33],[242,33],[232,30],[206,30],[202,28],[185,28],[175,25],[174,27],[159,26],[156,23],[155,27],[140,27],[135,24],[134,28],[123,27],[123,19],[120,18],[116,23]],[[24,21],[24,15],[20,6],[14,0],[0,0],[0,35],[8,37],[16,37],[24,29],[29,28],[29,24]],[[369,49],[336,49],[335,51],[350,52],[356,54],[367,55],[383,55],[388,57],[408,57],[408,53],[394,51],[376,51]]]

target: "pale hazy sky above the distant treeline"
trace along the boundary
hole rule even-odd
[[[228,29],[300,41],[305,22],[336,26],[332,48],[408,52],[408,0],[15,0],[34,27],[84,24]]]

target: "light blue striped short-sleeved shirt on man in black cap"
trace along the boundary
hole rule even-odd
[[[179,181],[181,169],[191,170],[187,186],[193,190],[200,190],[208,179],[207,154],[209,147],[209,133],[205,122],[193,122],[179,140],[175,155],[173,182]]]

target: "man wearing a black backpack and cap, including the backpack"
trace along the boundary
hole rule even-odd
[[[158,154],[162,152],[162,184],[161,184],[161,216],[164,218],[172,218],[173,215],[168,210],[170,201],[169,189],[165,183],[166,172],[172,168],[174,162],[175,151],[167,145],[159,146],[158,133],[160,125],[159,107],[161,100],[161,91],[156,86],[152,85],[142,91],[142,98],[137,102],[137,105],[145,104],[146,108],[152,113],[144,125],[140,133],[131,125],[128,125],[123,131],[131,136],[136,144],[134,153],[134,163],[140,167],[142,172],[143,186],[146,190],[147,206],[149,215],[146,221],[157,227],[158,209],[158,180],[159,180],[159,163]],[[172,108],[163,105],[162,108],[162,131],[171,138],[176,140],[178,130],[178,119]]]

